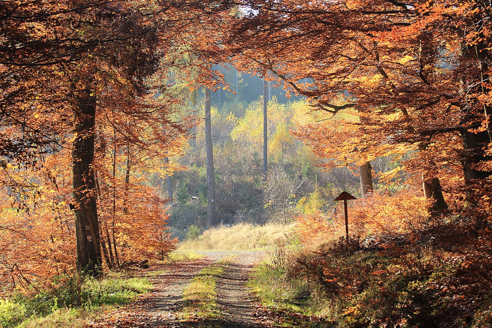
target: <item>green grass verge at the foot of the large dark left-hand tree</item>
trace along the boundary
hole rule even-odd
[[[86,279],[80,288],[73,279],[60,287],[35,295],[16,294],[0,300],[0,328],[83,327],[99,310],[126,304],[150,290],[146,278],[110,273],[102,279]]]

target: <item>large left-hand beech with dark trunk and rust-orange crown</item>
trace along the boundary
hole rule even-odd
[[[101,268],[93,163],[97,121],[109,116],[120,121],[148,119],[155,108],[149,102],[136,104],[150,92],[150,77],[159,67],[161,71],[173,65],[189,67],[180,60],[183,44],[174,40],[177,34],[195,33],[195,24],[203,22],[188,23],[196,14],[206,16],[211,7],[198,1],[161,6],[140,1],[34,0],[2,2],[0,10],[4,36],[0,137],[5,141],[0,146],[5,158],[1,165],[5,170],[9,162],[33,167],[39,156],[71,143],[70,203],[76,217],[78,267],[97,275]],[[161,92],[168,80],[159,85],[159,74],[155,75],[153,88]],[[123,115],[119,118],[114,112]],[[117,125],[115,133],[125,135],[127,131],[118,131]],[[30,181],[8,174],[2,178],[6,185],[24,185],[23,193],[38,192]],[[18,202],[24,199],[18,197]]]

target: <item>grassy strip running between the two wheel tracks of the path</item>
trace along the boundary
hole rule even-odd
[[[219,318],[216,284],[217,279],[224,272],[225,264],[221,261],[202,269],[184,288],[182,320],[191,318],[214,320]]]

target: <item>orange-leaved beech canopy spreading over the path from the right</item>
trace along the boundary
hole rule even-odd
[[[461,164],[468,185],[491,174],[484,165],[488,40],[477,36],[488,35],[489,25],[476,25],[488,15],[483,4],[242,3],[251,10],[227,41],[240,70],[270,70],[327,118],[360,109],[358,149],[374,140],[409,150],[427,145],[414,155],[425,181],[446,175],[450,164]],[[300,82],[305,79],[311,82]],[[456,152],[460,156],[451,155]],[[433,167],[426,167],[430,162]]]

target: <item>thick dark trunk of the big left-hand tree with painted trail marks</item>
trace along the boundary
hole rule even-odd
[[[93,168],[96,97],[89,88],[75,92],[72,172],[77,268],[84,274],[97,276],[101,273],[102,259]]]

